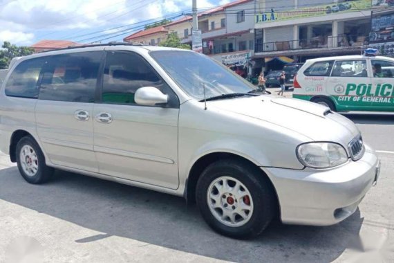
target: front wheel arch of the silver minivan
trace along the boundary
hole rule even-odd
[[[205,168],[214,163],[215,161],[222,160],[224,158],[236,158],[240,161],[243,161],[245,165],[250,165],[252,167],[256,168],[256,171],[261,174],[261,176],[265,176],[268,181],[270,182],[270,187],[274,191],[275,195],[275,202],[276,202],[276,208],[277,211],[276,215],[279,216],[280,213],[280,203],[279,203],[279,198],[278,194],[276,193],[276,189],[274,187],[274,184],[270,180],[269,176],[265,174],[263,170],[260,169],[258,165],[256,165],[254,162],[250,161],[249,159],[240,156],[238,154],[233,154],[230,152],[212,152],[209,154],[205,154],[204,156],[201,156],[198,158],[198,160],[192,165],[191,170],[189,171],[189,176],[187,177],[187,182],[186,182],[186,187],[185,187],[185,198],[188,203],[195,203],[196,202],[196,185],[197,181],[200,178],[201,173]]]

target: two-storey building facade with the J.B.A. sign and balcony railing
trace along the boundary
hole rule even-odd
[[[288,61],[360,54],[368,44],[370,16],[370,0],[258,0],[254,59],[264,64],[281,57],[266,65],[279,69]]]

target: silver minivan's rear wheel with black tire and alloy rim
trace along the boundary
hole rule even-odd
[[[19,172],[28,183],[45,183],[52,176],[53,168],[46,166],[44,154],[31,136],[19,140],[16,155]]]

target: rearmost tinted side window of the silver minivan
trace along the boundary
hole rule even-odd
[[[6,95],[37,98],[38,97],[38,81],[41,69],[48,60],[48,57],[38,57],[32,60],[21,62],[14,71],[6,84]]]

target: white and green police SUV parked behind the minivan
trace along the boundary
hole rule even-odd
[[[308,60],[294,78],[293,98],[332,111],[394,111],[394,59],[376,53]]]

